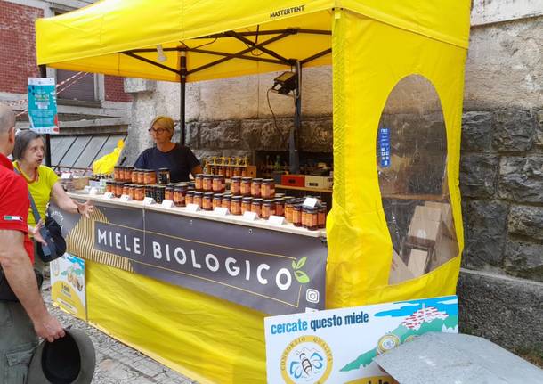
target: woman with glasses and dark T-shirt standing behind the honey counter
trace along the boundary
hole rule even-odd
[[[167,116],[158,116],[150,123],[149,133],[156,146],[142,151],[134,163],[135,168],[168,168],[172,183],[188,182],[192,176],[202,173],[202,167],[194,153],[188,147],[172,143],[174,120]]]

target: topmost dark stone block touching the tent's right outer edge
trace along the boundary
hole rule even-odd
[[[462,151],[489,151],[492,140],[492,114],[466,112],[462,116]]]

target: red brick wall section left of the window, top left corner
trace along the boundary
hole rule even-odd
[[[0,0],[0,92],[26,94],[28,77],[37,77],[34,20],[39,8]]]

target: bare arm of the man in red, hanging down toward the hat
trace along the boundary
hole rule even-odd
[[[36,274],[24,249],[24,234],[20,231],[0,230],[0,266],[7,281],[27,311],[40,338],[53,342],[63,338],[61,323],[49,314],[37,288]]]

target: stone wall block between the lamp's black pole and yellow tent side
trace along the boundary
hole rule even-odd
[[[332,152],[334,129],[332,118],[302,120],[300,129],[300,150]]]

